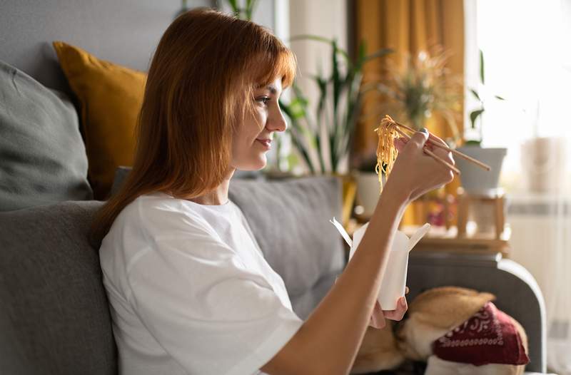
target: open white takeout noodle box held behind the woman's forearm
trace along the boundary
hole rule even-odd
[[[335,220],[335,217],[333,217],[333,220],[330,220],[330,222],[335,225],[341,236],[343,236],[345,242],[350,246],[350,261],[355,254],[355,250],[359,246],[360,241],[363,239],[363,235],[365,235],[365,231],[367,230],[369,223],[356,230],[353,234],[353,240],[351,240],[343,226]],[[395,232],[395,239],[393,241],[393,245],[390,247],[387,267],[385,268],[385,274],[383,275],[383,280],[381,281],[380,291],[377,298],[380,307],[383,310],[396,309],[398,299],[405,295],[408,252],[413,250],[413,247],[415,247],[418,241],[424,237],[428,230],[430,230],[430,224],[426,223],[422,227],[418,228],[410,238],[408,238],[408,236],[403,232],[400,232],[400,230]]]

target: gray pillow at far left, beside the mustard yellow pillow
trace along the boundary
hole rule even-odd
[[[73,104],[0,61],[0,211],[89,200]]]

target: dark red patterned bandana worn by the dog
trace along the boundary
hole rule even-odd
[[[527,364],[520,334],[512,319],[487,302],[460,326],[433,342],[433,353],[445,361],[483,364]]]

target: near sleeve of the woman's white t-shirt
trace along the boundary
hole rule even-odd
[[[163,222],[128,267],[141,322],[189,374],[253,374],[303,322],[200,223]]]

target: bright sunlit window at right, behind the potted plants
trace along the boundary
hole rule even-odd
[[[468,28],[473,27],[467,30],[466,86],[487,98],[482,145],[508,150],[502,185],[508,191],[525,190],[532,162],[521,146],[533,137],[555,137],[566,144],[559,167],[571,170],[571,1],[468,0],[466,13]],[[479,84],[477,49],[485,58],[485,90]],[[495,100],[495,95],[506,100]],[[466,110],[475,106],[468,98]],[[542,158],[553,161],[556,153]]]

